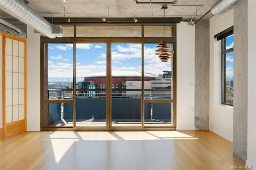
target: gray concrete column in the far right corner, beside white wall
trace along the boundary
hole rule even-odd
[[[210,21],[195,24],[195,127],[209,128]]]

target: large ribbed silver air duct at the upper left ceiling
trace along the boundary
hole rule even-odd
[[[0,0],[0,8],[44,36],[56,38],[52,34],[53,26],[21,0]]]

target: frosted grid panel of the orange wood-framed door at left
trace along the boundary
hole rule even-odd
[[[25,43],[6,38],[6,123],[25,119]]]

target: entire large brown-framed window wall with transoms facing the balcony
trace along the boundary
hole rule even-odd
[[[162,28],[75,25],[42,37],[42,130],[175,127],[176,55],[161,62],[155,54]],[[175,25],[165,34],[175,51]]]

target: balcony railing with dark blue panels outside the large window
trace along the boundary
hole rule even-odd
[[[145,90],[145,99],[171,99],[171,89]],[[48,99],[73,99],[73,89],[50,89]],[[141,90],[112,89],[112,120],[141,120]],[[48,103],[48,125],[73,119],[73,103]],[[106,119],[106,89],[76,90],[76,120]],[[170,124],[172,103],[145,103],[144,118]]]

